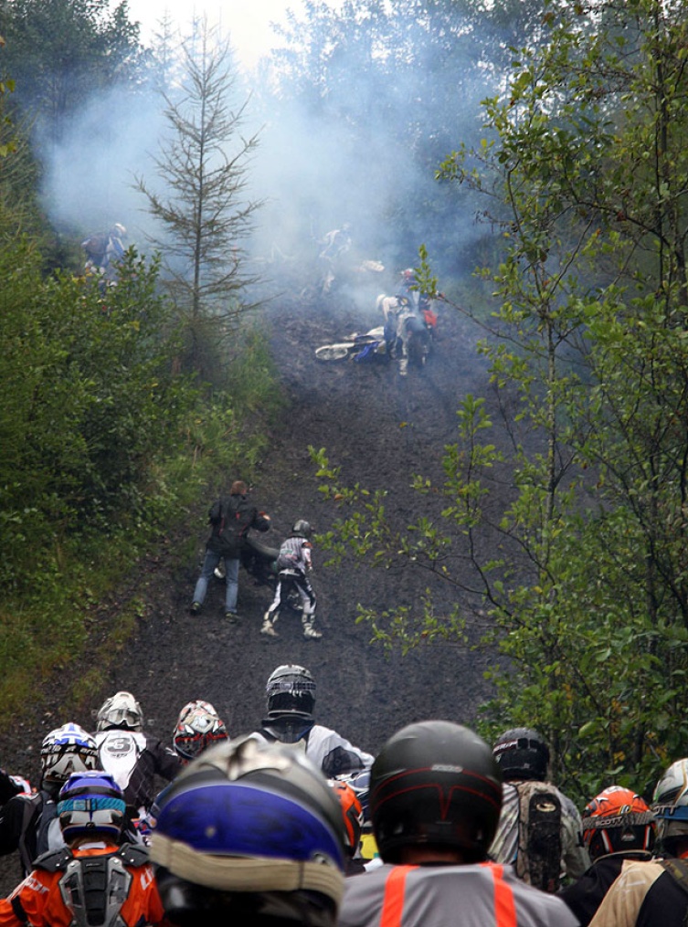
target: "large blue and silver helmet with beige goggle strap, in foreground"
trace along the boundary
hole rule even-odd
[[[304,754],[251,737],[217,744],[157,805],[150,858],[172,923],[334,927],[341,812]]]

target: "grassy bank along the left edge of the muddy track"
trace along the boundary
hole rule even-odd
[[[180,561],[194,555],[196,543],[185,527],[189,512],[227,473],[252,478],[267,447],[266,431],[283,405],[266,338],[248,329],[227,389],[204,397],[185,420],[173,453],[151,464],[138,514],[107,535],[82,533],[36,552],[22,591],[6,590],[0,607],[0,728],[16,723],[27,702],[40,705],[57,670],[83,665],[65,692],[64,710],[91,701],[147,616],[145,593],[132,581],[141,557],[171,533],[182,539]]]

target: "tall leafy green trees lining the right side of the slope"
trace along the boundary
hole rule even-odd
[[[376,635],[408,645],[487,619],[483,642],[503,654],[491,717],[541,727],[559,775],[589,795],[600,778],[643,786],[688,732],[686,14],[548,4],[544,21],[548,41],[486,102],[481,145],[440,172],[491,196],[503,233],[482,349],[512,450],[496,410],[467,398],[444,486],[415,480],[444,494],[441,518],[401,536],[383,500],[338,487],[317,459],[328,491],[364,503],[335,551],[364,539],[380,563],[401,553],[459,594],[440,621],[431,604],[368,614]]]

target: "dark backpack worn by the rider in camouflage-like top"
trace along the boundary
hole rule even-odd
[[[516,875],[554,894],[561,879],[561,798],[548,782],[512,782],[518,793]]]

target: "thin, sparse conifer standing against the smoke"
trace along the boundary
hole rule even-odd
[[[256,134],[244,137],[248,99],[232,108],[236,73],[231,49],[203,21],[184,45],[181,90],[164,95],[169,135],[156,160],[161,186],[144,179],[138,189],[161,231],[151,236],[162,254],[162,283],[188,340],[189,366],[211,377],[240,317],[253,277],[244,243],[260,201],[248,197],[248,161]]]

